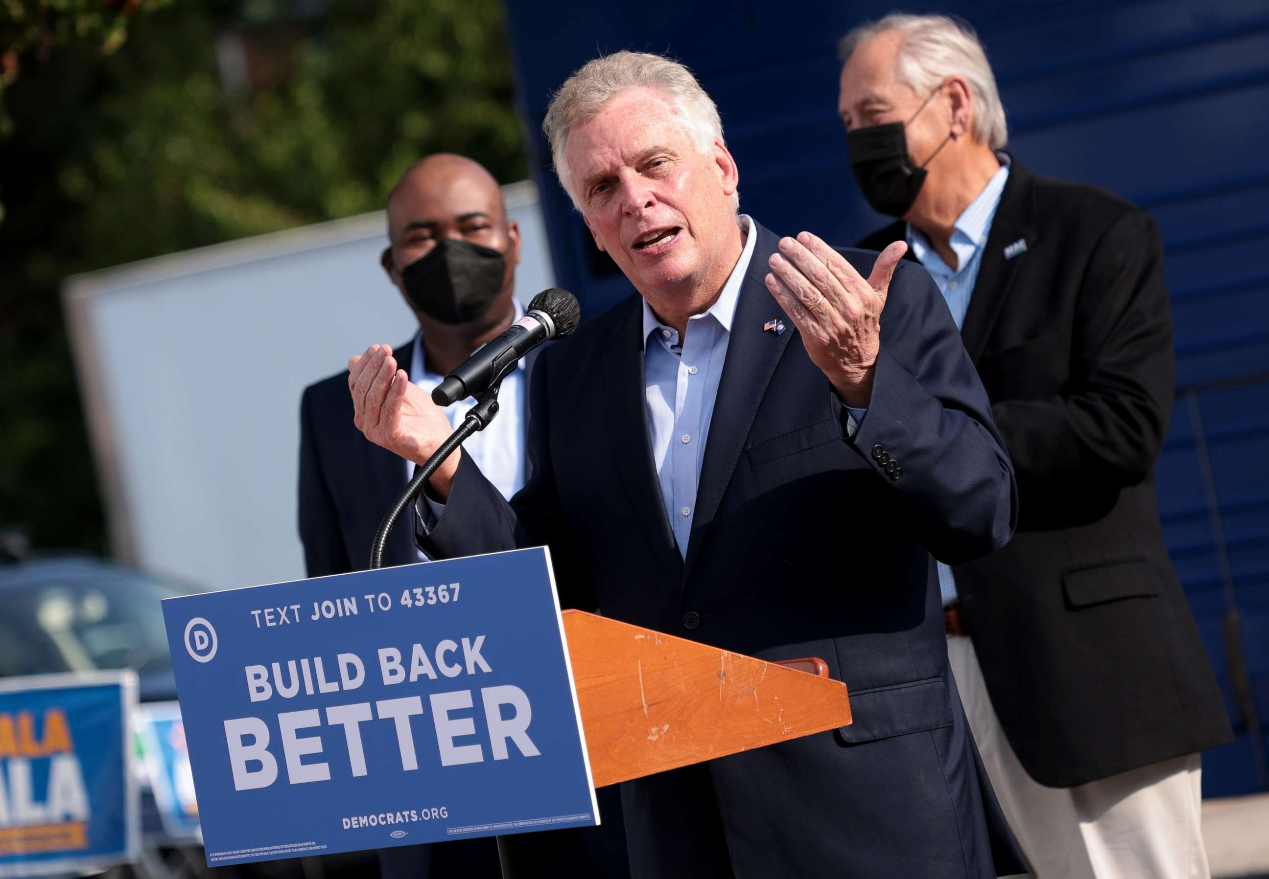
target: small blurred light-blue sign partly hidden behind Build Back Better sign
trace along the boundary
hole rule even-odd
[[[133,714],[132,728],[138,741],[138,756],[146,781],[154,793],[162,823],[160,841],[171,845],[202,843],[198,823],[198,798],[185,743],[185,724],[180,705],[174,701],[147,703]]]

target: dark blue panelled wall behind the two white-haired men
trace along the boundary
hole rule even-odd
[[[555,181],[541,122],[551,90],[596,51],[670,52],[697,72],[740,165],[742,208],[774,231],[849,245],[884,222],[846,164],[835,44],[890,4],[508,5],[556,274],[585,315],[631,288]],[[1269,726],[1269,3],[961,0],[933,11],[978,29],[1011,152],[1038,173],[1113,189],[1160,222],[1178,367],[1161,515],[1239,732],[1206,756],[1204,791],[1269,789],[1249,732],[1256,718]],[[1231,646],[1245,661],[1242,690]]]

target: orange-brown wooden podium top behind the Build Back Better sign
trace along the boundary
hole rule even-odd
[[[764,662],[579,610],[563,628],[596,788],[850,723],[821,660]]]

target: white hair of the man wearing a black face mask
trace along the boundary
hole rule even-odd
[[[947,15],[891,13],[877,22],[860,24],[843,37],[838,44],[841,62],[849,61],[865,41],[888,30],[902,34],[898,55],[895,56],[895,79],[925,98],[947,77],[963,76],[973,94],[973,136],[992,150],[1004,147],[1009,140],[1005,108],[973,28]]]

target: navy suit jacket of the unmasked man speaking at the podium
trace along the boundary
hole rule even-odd
[[[421,545],[549,544],[566,606],[766,660],[819,656],[848,684],[849,727],[622,785],[633,875],[702,875],[712,809],[739,876],[994,876],[992,842],[1001,871],[1022,871],[948,672],[929,556],[967,562],[1013,531],[986,394],[929,274],[901,265],[868,413],[845,439],[763,285],[777,238],[756,235],[687,561],[654,472],[638,296],[539,358],[533,476],[513,504],[463,458]],[[865,277],[877,256],[844,254]],[[788,330],[764,332],[775,317]]]

